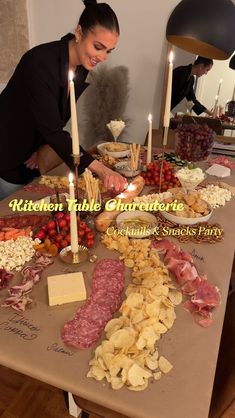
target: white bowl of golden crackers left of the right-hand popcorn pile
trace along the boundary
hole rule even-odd
[[[211,206],[201,199],[198,191],[185,192],[184,189],[171,189],[171,198],[167,203],[177,201],[182,203],[182,210],[163,211],[162,216],[167,220],[180,225],[194,225],[198,222],[207,222],[212,215]]]

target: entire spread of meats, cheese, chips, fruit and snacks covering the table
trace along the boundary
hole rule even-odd
[[[182,158],[187,157],[182,145],[186,133],[179,131]],[[208,141],[211,144],[210,131],[197,134],[204,135],[205,146]],[[25,193],[40,195],[41,200],[27,200],[30,208],[41,205],[37,214],[27,213],[26,202],[9,203],[9,208],[16,210],[0,218],[0,290],[2,309],[37,309],[32,303],[36,302],[34,286],[47,277],[48,309],[77,303],[58,333],[64,347],[92,350],[87,377],[106,380],[114,390],[142,391],[174,367],[174,358],[164,355],[159,342],[174,327],[179,310],[192,314],[192,327],[213,327],[212,315],[221,303],[220,289],[213,283],[213,275],[207,278],[206,264],[198,268],[175,239],[182,244],[219,245],[225,237],[223,225],[208,220],[218,208],[223,210],[229,204],[234,190],[218,181],[205,184],[205,172],[199,167],[182,168],[181,164],[180,169],[175,168],[162,157],[145,164],[139,147],[133,148],[138,150],[138,161],[132,147],[131,160],[127,156],[117,160],[105,153],[129,148],[119,143],[102,147],[107,165],[123,161],[141,167],[140,174],[127,175],[128,183],[121,193],[105,189],[86,169],[78,181],[77,206],[70,194],[63,196],[63,202],[56,200],[58,191],[71,193],[68,177],[49,175],[25,187]],[[199,156],[204,153],[201,148],[197,152]],[[48,210],[43,213],[45,195],[52,205],[49,214]],[[63,206],[58,209],[56,203]],[[19,209],[23,205],[25,212]],[[83,273],[67,273],[61,261],[56,274],[47,273],[61,251],[73,251],[74,222],[77,245],[88,252],[86,263],[96,262],[89,274],[90,288]],[[102,246],[115,259],[113,255],[102,258],[101,253],[97,257],[96,248]]]

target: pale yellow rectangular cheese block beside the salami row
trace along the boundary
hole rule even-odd
[[[49,276],[47,284],[50,306],[85,300],[87,297],[81,272]]]

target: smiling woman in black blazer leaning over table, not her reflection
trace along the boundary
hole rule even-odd
[[[73,169],[72,140],[63,130],[70,118],[69,70],[76,100],[89,71],[107,59],[118,41],[117,17],[106,3],[83,0],[75,35],[26,52],[0,95],[0,199],[40,175],[36,151],[48,144]],[[126,180],[81,147],[80,172],[88,167],[106,187],[123,190]]]

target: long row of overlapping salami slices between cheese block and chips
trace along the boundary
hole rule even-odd
[[[74,319],[67,322],[61,338],[65,344],[78,349],[93,346],[122,303],[124,289],[123,262],[100,260],[93,272],[92,293],[76,312]]]

